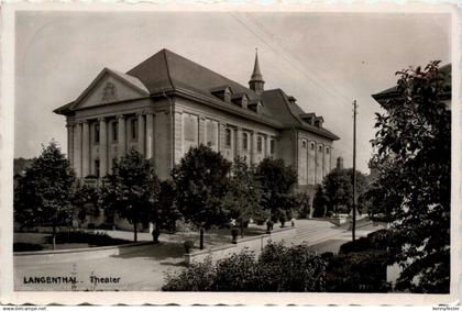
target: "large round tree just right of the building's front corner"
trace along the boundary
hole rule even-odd
[[[230,171],[231,163],[210,147],[200,145],[188,151],[172,173],[176,203],[186,221],[205,229],[229,222],[223,202]]]

